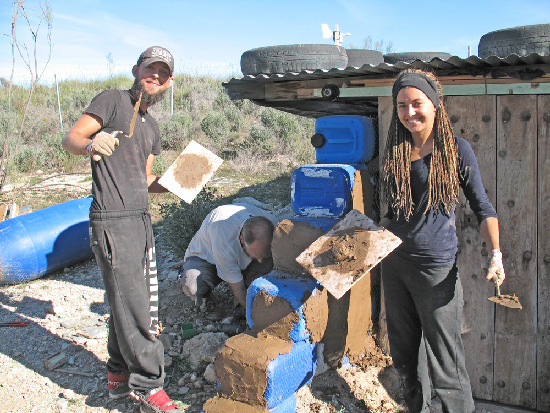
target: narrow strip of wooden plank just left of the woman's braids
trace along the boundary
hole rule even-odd
[[[382,160],[384,158],[384,150],[386,149],[386,141],[388,138],[388,130],[390,128],[390,122],[393,112],[393,102],[391,97],[381,97],[378,98],[378,162],[379,170],[382,171]],[[380,176],[380,175],[379,175]],[[386,212],[388,212],[387,205],[380,202],[382,199],[382,191],[380,189],[380,179],[379,182],[379,205],[380,205],[380,216],[383,217]],[[384,262],[380,266],[381,272],[384,271]],[[377,334],[378,346],[385,353],[390,352],[390,343],[388,341],[388,328],[386,325],[386,305],[384,300],[384,285],[380,283],[380,315],[378,318],[378,334]]]

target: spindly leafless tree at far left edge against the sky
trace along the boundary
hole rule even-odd
[[[10,44],[12,52],[12,69],[10,75],[10,82],[8,85],[8,124],[6,126],[6,138],[4,140],[4,147],[2,151],[2,159],[0,160],[0,191],[6,182],[8,171],[9,171],[9,161],[12,160],[17,154],[17,149],[21,142],[21,137],[23,135],[23,128],[25,125],[25,120],[27,118],[27,113],[30,107],[31,99],[33,92],[36,88],[36,85],[40,81],[46,67],[51,58],[52,54],[52,11],[48,0],[42,2],[39,6],[38,13],[30,14],[24,6],[25,0],[12,0],[13,14],[11,21],[11,33],[10,33]],[[20,19],[23,19],[24,24],[28,26],[30,41],[19,40],[17,37],[18,22]],[[44,65],[39,69],[38,63],[38,50],[39,50],[39,40],[41,39],[41,29],[46,25],[46,43],[47,43],[47,58]],[[21,117],[21,122],[19,125],[19,131],[17,132],[17,140],[15,142],[15,147],[13,150],[10,150],[9,147],[9,137],[10,137],[10,126],[11,126],[11,90],[13,85],[13,75],[15,72],[15,61],[17,50],[19,56],[23,60],[25,66],[27,66],[31,82],[29,87],[29,94],[27,97],[27,103]]]

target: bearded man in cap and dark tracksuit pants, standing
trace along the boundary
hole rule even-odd
[[[134,391],[147,413],[180,412],[162,389],[164,349],[156,336],[158,281],[148,213],[148,192],[166,189],[152,172],[161,141],[147,109],[169,90],[173,72],[168,50],[148,48],[132,68],[132,88],[97,95],[62,142],[68,152],[92,157],[90,244],[111,309],[109,397]]]

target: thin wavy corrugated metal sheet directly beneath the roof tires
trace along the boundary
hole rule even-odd
[[[541,56],[538,53],[532,53],[528,56],[510,55],[506,58],[497,56],[491,56],[486,59],[481,59],[477,56],[470,56],[466,59],[462,59],[458,56],[452,56],[447,60],[441,60],[435,58],[430,62],[423,62],[416,60],[411,63],[399,62],[396,64],[380,63],[377,66],[370,64],[363,65],[362,67],[347,67],[345,69],[317,69],[317,70],[304,70],[299,73],[284,73],[284,74],[260,74],[260,75],[246,75],[242,78],[233,78],[229,82],[224,83],[230,86],[237,83],[272,83],[281,81],[296,81],[296,80],[313,80],[313,79],[327,79],[327,78],[344,78],[355,76],[380,76],[380,75],[394,75],[395,73],[406,69],[408,67],[416,67],[419,69],[429,69],[435,73],[449,72],[452,74],[472,74],[478,75],[483,73],[495,72],[496,69],[521,69],[521,67],[532,66],[550,66],[550,55]],[[543,68],[541,68],[543,70]],[[550,71],[549,67],[544,70],[545,73]]]

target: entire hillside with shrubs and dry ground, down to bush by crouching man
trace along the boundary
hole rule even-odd
[[[37,210],[74,198],[74,193],[59,189],[46,194],[35,184],[51,174],[89,173],[89,159],[65,152],[61,139],[95,95],[105,89],[128,89],[133,79],[59,83],[63,128],[55,85],[38,85],[17,151],[29,90],[12,85],[10,92],[9,83],[0,81],[0,151],[7,136],[10,156],[4,189],[12,188],[0,193],[0,204],[17,202]],[[171,194],[151,195],[151,212],[155,222],[164,226],[167,245],[178,251],[184,249],[204,216],[215,205],[231,202],[236,196],[254,196],[273,205],[290,202],[290,173],[297,166],[315,161],[310,143],[313,120],[250,101],[231,101],[222,81],[209,77],[176,76],[173,102],[172,116],[169,93],[150,109],[159,122],[163,146],[153,172],[162,175],[191,140],[222,157],[224,163],[216,172],[215,182],[191,205]],[[89,183],[90,176],[85,176]]]

